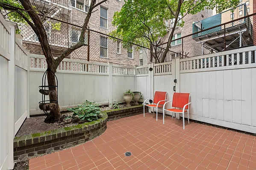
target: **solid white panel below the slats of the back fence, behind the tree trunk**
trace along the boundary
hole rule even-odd
[[[44,71],[44,69],[43,69]],[[30,71],[30,114],[43,113],[39,109],[41,94],[38,86],[41,85],[43,71]],[[58,99],[61,110],[82,104],[85,100],[108,104],[109,83],[108,75],[56,73],[58,78]],[[127,84],[127,82],[121,82]],[[118,84],[117,84],[118,85]],[[134,79],[133,84],[134,87]],[[128,87],[127,87],[128,88]],[[123,94],[121,94],[122,96]],[[46,99],[49,99],[46,96]]]

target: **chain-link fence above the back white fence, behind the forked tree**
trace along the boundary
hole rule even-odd
[[[47,18],[44,28],[54,57],[58,57],[63,51],[75,45],[81,34],[81,26],[53,18]],[[32,28],[21,24],[19,29],[23,36],[24,48],[31,54],[43,55],[38,37]],[[85,46],[73,51],[66,58],[132,66],[147,65],[150,62],[149,48],[135,44],[124,48],[122,40],[98,31],[87,29],[84,42]]]

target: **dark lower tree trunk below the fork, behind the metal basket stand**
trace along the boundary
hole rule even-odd
[[[53,71],[53,73],[56,73],[56,70]],[[56,80],[55,80],[55,74],[53,74],[51,71],[47,72],[47,81],[49,86],[54,86],[56,85]],[[59,102],[58,102],[58,96],[57,96],[57,89],[56,88],[49,88],[49,90],[55,89],[55,93],[50,93],[49,99],[50,100],[56,100],[57,105],[56,108],[50,111],[50,114],[44,119],[45,123],[54,123],[56,121],[59,121],[62,119],[62,114],[60,113],[59,109]]]

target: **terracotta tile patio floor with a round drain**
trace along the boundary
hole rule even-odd
[[[182,130],[182,120],[167,116],[163,125],[161,116],[108,122],[96,139],[30,159],[29,169],[256,170],[256,137],[193,122]]]

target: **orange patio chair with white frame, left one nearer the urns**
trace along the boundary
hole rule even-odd
[[[167,95],[167,92],[165,92],[165,91],[156,91],[155,95],[154,95],[154,98],[150,98],[150,99],[153,99],[153,104],[152,105],[145,104],[145,102],[147,100],[150,100],[150,99],[146,99],[143,103],[143,105],[144,105],[143,106],[143,108],[144,108],[144,117],[145,117],[145,106],[150,107],[150,108],[156,108],[156,121],[157,121],[157,109],[162,108],[163,105],[165,104],[165,101],[167,100],[166,95]]]

